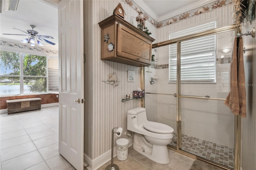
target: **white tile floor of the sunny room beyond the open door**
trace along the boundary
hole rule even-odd
[[[75,170],[58,152],[58,107],[0,114],[1,170]]]

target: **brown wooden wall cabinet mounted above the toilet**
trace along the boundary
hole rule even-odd
[[[101,28],[101,59],[137,67],[151,65],[154,38],[117,15],[98,23]],[[108,50],[110,43],[114,45]]]

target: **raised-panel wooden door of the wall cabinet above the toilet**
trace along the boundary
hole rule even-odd
[[[140,63],[151,63],[152,42],[118,24],[117,56]]]

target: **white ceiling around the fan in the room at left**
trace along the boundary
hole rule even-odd
[[[44,45],[43,48],[58,50],[58,8],[57,6],[42,0],[20,0],[16,11],[10,10],[1,13],[1,40],[20,42],[21,40],[28,38],[28,36],[3,35],[2,33],[25,34],[22,31],[26,32],[26,30],[32,30],[30,25],[36,26],[34,30],[39,32],[38,35],[52,36],[54,38],[44,39],[56,43],[55,45],[40,41]]]

